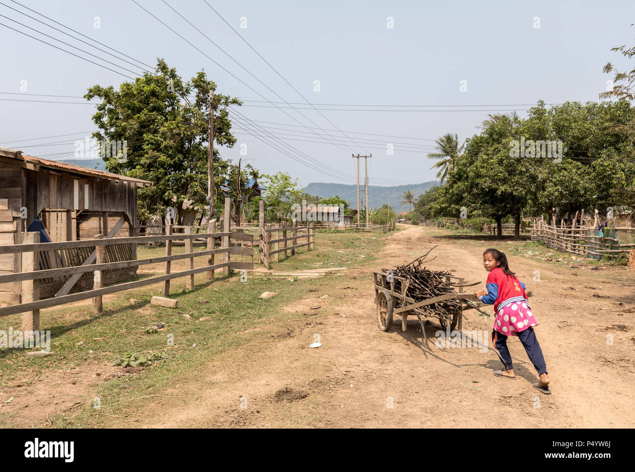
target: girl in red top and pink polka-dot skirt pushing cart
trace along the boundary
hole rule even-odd
[[[549,377],[547,364],[542,350],[533,332],[538,322],[529,307],[529,300],[525,293],[525,284],[516,278],[509,270],[507,257],[497,249],[488,249],[483,253],[483,265],[490,272],[487,276],[487,292],[479,290],[476,297],[488,305],[494,304],[496,319],[491,332],[494,350],[503,363],[505,369],[495,371],[494,375],[515,379],[512,368],[512,357],[507,349],[507,336],[517,336],[523,344],[533,367],[538,371],[538,382],[533,386],[540,392],[549,395]]]

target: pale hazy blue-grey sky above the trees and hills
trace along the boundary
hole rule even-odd
[[[208,0],[316,108],[329,108],[317,104],[335,104],[330,108],[339,108],[320,110],[322,116],[241,41],[203,0],[178,3],[166,0],[285,101],[304,103],[292,106],[309,108],[299,112],[284,110],[289,116],[266,102],[281,99],[161,1],[137,0],[265,98],[215,65],[131,0],[19,1],[145,64],[154,66],[156,58],[162,57],[186,80],[204,68],[208,77],[217,83],[218,92],[252,100],[246,101],[238,112],[255,123],[251,123],[248,131],[235,129],[238,144],[247,144],[243,160],[251,159],[248,162],[264,173],[288,172],[303,185],[353,183],[353,152],[373,154],[371,184],[432,180],[436,174],[430,170],[434,161],[426,155],[434,143],[429,140],[446,132],[456,132],[462,141],[478,132],[476,127],[488,113],[516,110],[523,116],[528,105],[538,99],[547,103],[598,100],[599,92],[606,89],[606,80],[611,78],[602,73],[607,61],[617,63],[620,70],[632,68],[632,64],[625,63],[610,49],[635,44],[635,27],[631,27],[635,22],[635,3],[632,1],[537,1],[526,5],[509,1]],[[41,33],[97,54],[137,75],[142,73],[140,68],[122,59],[81,44],[4,6],[51,23],[19,4],[11,0],[0,2],[0,15],[37,32],[2,16],[0,23],[126,75],[134,76]],[[389,28],[389,17],[392,28]],[[539,28],[536,27],[538,22]],[[55,27],[77,36],[60,25]],[[0,26],[0,44],[0,92],[3,92],[0,94],[0,146],[22,149],[30,155],[72,158],[74,140],[90,136],[95,130],[91,121],[95,109],[92,105],[8,101],[82,101],[8,92],[20,93],[26,85],[28,94],[81,96],[94,84],[118,86],[130,80],[4,26]],[[319,80],[319,92],[314,91],[316,80]],[[462,80],[466,81],[467,91],[461,91]],[[389,106],[382,107],[381,111],[341,110],[369,108],[359,105]],[[404,105],[424,106],[410,107],[410,110],[426,111],[406,111],[407,107],[398,107]],[[441,106],[441,110],[435,106]],[[246,127],[237,122],[236,125]],[[336,130],[336,126],[347,137],[331,131]],[[76,134],[27,141],[72,133]],[[269,137],[269,140],[276,143],[278,149],[250,136],[254,133],[272,133],[275,138]],[[325,138],[334,141],[328,133],[337,137],[340,147],[325,142]],[[53,142],[56,144],[27,147]],[[281,143],[290,147],[285,148]],[[394,155],[387,154],[388,143],[394,144]],[[407,143],[409,147],[398,143]],[[222,157],[237,160],[238,144],[233,149],[222,149]],[[319,170],[293,160],[281,149]]]

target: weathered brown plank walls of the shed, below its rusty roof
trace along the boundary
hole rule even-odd
[[[21,207],[27,208],[26,221],[20,219]],[[0,156],[0,245],[20,244],[21,227],[29,226],[36,215],[41,215],[51,241],[92,239],[101,232],[101,217],[91,216],[88,220],[84,219],[82,222],[80,219],[76,222],[69,210],[76,210],[77,213],[119,212],[119,215],[111,215],[109,218],[110,227],[116,224],[123,212],[128,222],[137,226],[137,185],[130,181],[98,176],[79,177],[62,169],[24,169],[21,162]],[[138,229],[131,228],[128,222],[116,237],[136,234]],[[96,228],[99,229],[95,231]],[[130,245],[121,246],[117,245],[112,249],[114,252],[110,257],[113,260],[134,258],[136,247],[130,252]],[[67,258],[77,258],[80,255],[51,252],[46,256],[50,258],[51,267],[60,267],[72,264]],[[15,255],[0,255],[0,274],[20,272],[20,262],[20,258]],[[134,271],[130,272],[134,274]],[[116,273],[110,275],[123,276]],[[19,292],[19,283],[1,284],[0,305],[7,302],[19,303]]]

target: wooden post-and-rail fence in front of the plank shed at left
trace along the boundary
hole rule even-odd
[[[225,200],[225,210],[227,214],[231,211],[229,198]],[[57,243],[40,243],[40,233],[22,233],[21,245],[0,246],[1,254],[19,253],[22,257],[22,272],[15,274],[0,275],[0,283],[20,282],[20,301],[17,305],[0,307],[0,317],[22,313],[22,329],[25,331],[39,330],[39,310],[48,307],[63,305],[64,303],[77,302],[79,300],[93,299],[93,312],[102,312],[102,296],[109,293],[116,293],[123,290],[130,290],[141,286],[163,282],[163,295],[170,295],[170,281],[179,277],[187,277],[187,290],[194,289],[194,274],[207,272],[207,278],[213,280],[215,271],[222,270],[224,274],[229,273],[229,269],[253,269],[253,251],[248,254],[242,251],[239,246],[232,246],[231,241],[251,242],[253,244],[253,234],[244,234],[229,231],[229,219],[224,222],[224,231],[217,233],[216,221],[211,220],[207,233],[192,234],[191,228],[186,228],[184,233],[173,233],[173,227],[166,227],[166,234],[155,236],[131,236],[130,238],[110,239],[104,238],[102,234],[95,236],[95,239],[84,239],[81,241],[63,241]],[[194,252],[192,242],[197,238],[205,238],[207,249]],[[221,240],[220,248],[215,247],[216,239]],[[171,253],[173,241],[185,241],[185,253],[173,255]],[[163,257],[152,257],[147,259],[125,260],[120,262],[106,262],[107,249],[113,245],[140,243],[164,242],[166,253]],[[96,257],[90,258],[83,265],[74,267],[61,267],[57,269],[42,269],[39,255],[42,252],[51,250],[65,250],[70,248],[94,248]],[[222,262],[215,262],[215,255],[222,255]],[[230,260],[231,255],[240,256],[243,260]],[[194,268],[194,258],[208,257],[204,267]],[[244,260],[244,258],[251,258]],[[88,261],[91,263],[88,263]],[[185,260],[187,269],[180,272],[171,271],[171,262],[174,260]],[[104,286],[103,276],[105,271],[121,269],[124,267],[138,267],[146,264],[165,263],[164,274],[160,276],[148,277],[126,283],[119,283]],[[70,295],[56,295],[55,297],[40,299],[39,286],[42,280],[50,277],[72,276],[79,277],[88,272],[93,273],[93,288],[91,290],[79,291]]]

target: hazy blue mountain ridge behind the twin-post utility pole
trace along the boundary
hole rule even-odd
[[[394,187],[380,187],[375,185],[368,186],[368,201],[370,208],[378,208],[384,205],[384,203],[388,203],[388,192],[391,193],[391,208],[397,213],[405,212],[408,210],[408,205],[401,205],[401,200],[403,200],[403,193],[406,190],[410,190],[412,195],[415,196],[415,200],[417,200],[418,196],[422,193],[425,193],[435,185],[439,185],[438,181],[429,181],[423,182],[422,184],[417,185],[397,185]],[[361,201],[363,199],[363,189],[364,186],[359,186],[359,201],[361,205]],[[322,198],[329,198],[331,196],[339,196],[343,200],[349,202],[350,208],[357,208],[357,186],[356,185],[347,185],[347,184],[325,184],[321,182],[312,182],[307,185],[304,189],[306,193],[310,195],[319,195]]]

